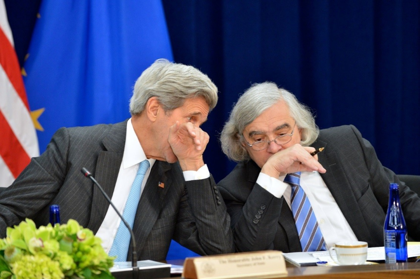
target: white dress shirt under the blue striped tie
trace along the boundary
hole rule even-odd
[[[283,196],[291,208],[291,186],[283,182],[284,177],[275,179],[260,173],[257,183],[275,197]],[[300,186],[311,203],[327,249],[339,241],[357,241],[356,235],[318,171],[303,171],[300,175]]]

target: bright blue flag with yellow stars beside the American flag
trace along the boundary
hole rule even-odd
[[[173,60],[160,0],[42,1],[24,64],[29,102],[45,108],[40,151],[60,127],[128,118],[134,82],[158,58]]]

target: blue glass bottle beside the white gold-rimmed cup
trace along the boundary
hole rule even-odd
[[[383,226],[385,263],[402,263],[407,257],[407,226],[399,203],[398,184],[389,184],[389,204]]]

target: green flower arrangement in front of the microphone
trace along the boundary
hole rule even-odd
[[[26,219],[0,239],[0,279],[107,279],[114,257],[77,221],[40,226]]]

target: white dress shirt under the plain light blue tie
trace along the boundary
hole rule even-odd
[[[126,206],[126,202],[131,190],[131,184],[133,184],[134,178],[136,177],[137,171],[139,170],[140,162],[144,160],[149,161],[150,168],[148,168],[146,174],[144,174],[140,196],[143,193],[144,186],[146,185],[147,179],[150,175],[150,170],[152,169],[156,160],[146,158],[142,145],[140,144],[136,133],[134,132],[133,124],[131,124],[130,118],[129,121],[127,121],[126,143],[124,146],[123,160],[121,162],[117,182],[115,183],[115,188],[111,199],[121,215]],[[210,172],[207,168],[207,165],[202,166],[198,171],[184,171],[183,173],[185,181],[205,179],[210,177]],[[104,221],[96,233],[96,236],[102,239],[102,247],[105,249],[106,253],[109,253],[109,250],[111,249],[120,222],[121,218],[110,205],[105,215]]]

